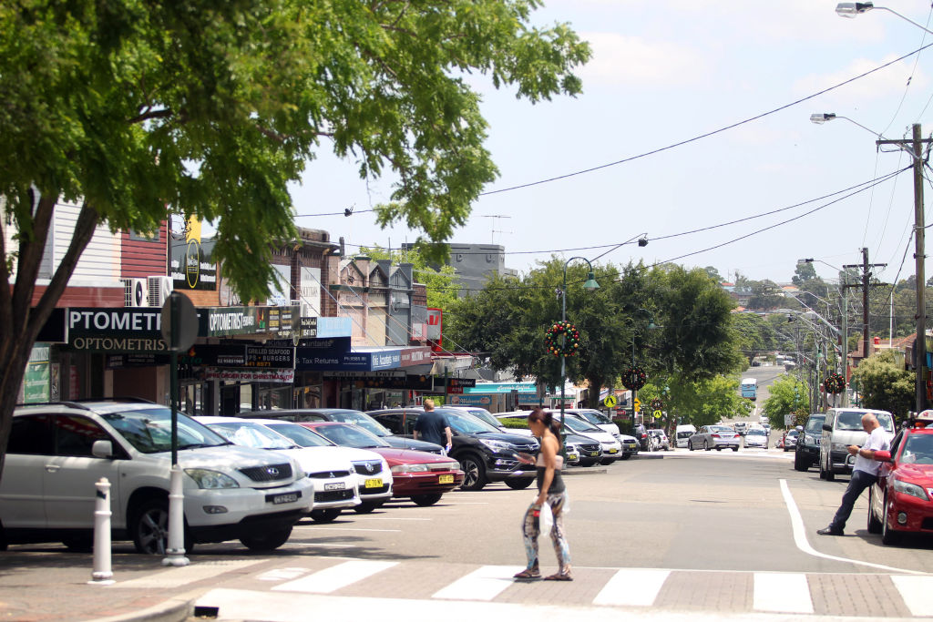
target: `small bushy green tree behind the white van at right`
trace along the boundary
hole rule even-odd
[[[914,375],[895,361],[895,352],[883,350],[862,361],[851,382],[858,385],[861,406],[893,413],[898,419],[915,406]]]

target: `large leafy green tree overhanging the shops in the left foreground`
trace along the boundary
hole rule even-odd
[[[287,185],[323,141],[363,178],[391,171],[383,226],[445,240],[496,175],[488,74],[531,102],[576,94],[590,50],[533,0],[242,0],[0,5],[0,470],[27,356],[98,225],[152,231],[165,206],[216,223],[242,299],[268,294],[270,241],[294,235]],[[74,236],[31,308],[60,198]]]

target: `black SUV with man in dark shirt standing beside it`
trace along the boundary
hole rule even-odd
[[[414,423],[424,412],[423,408],[386,408],[370,410],[368,414],[393,434],[411,436]],[[540,445],[535,437],[499,432],[463,410],[435,408],[435,412],[446,417],[451,425],[450,456],[466,474],[463,490],[479,491],[491,481],[504,481],[508,488],[519,491],[535,481],[535,467],[520,463],[517,455],[520,451],[536,454]]]

